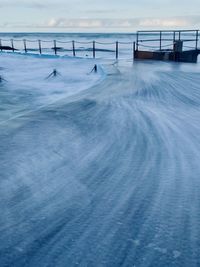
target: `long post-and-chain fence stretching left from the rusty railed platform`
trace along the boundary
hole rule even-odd
[[[82,45],[84,47],[82,47]],[[47,48],[48,46],[48,48]],[[109,46],[108,49],[102,49],[100,46]],[[79,52],[90,52],[92,58],[96,58],[98,52],[113,53],[115,59],[119,58],[120,49],[124,46],[129,46],[131,51],[130,57],[134,59],[135,42],[98,42],[98,41],[62,41],[62,40],[34,40],[34,39],[0,39],[1,51],[13,52],[34,52],[37,54],[45,54],[46,52],[54,55],[63,53],[70,53],[71,56],[76,57]],[[124,51],[124,50],[123,50]]]

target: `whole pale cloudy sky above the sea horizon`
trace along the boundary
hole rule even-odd
[[[177,28],[200,28],[200,0],[0,0],[1,32]]]

